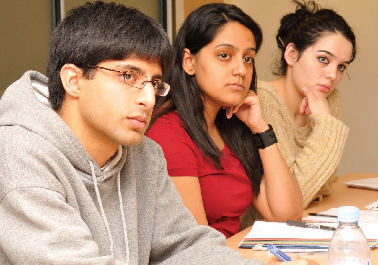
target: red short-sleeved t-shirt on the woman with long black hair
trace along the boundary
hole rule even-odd
[[[158,118],[146,135],[163,149],[169,176],[199,178],[208,223],[228,238],[239,232],[239,217],[252,202],[251,180],[226,144],[220,157],[223,169],[207,161],[181,124],[178,113],[170,112]]]

